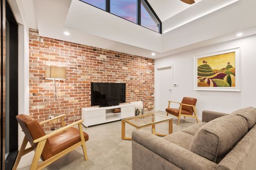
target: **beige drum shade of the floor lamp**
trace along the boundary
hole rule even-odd
[[[47,66],[46,67],[46,79],[65,80],[66,79],[66,68]]]

